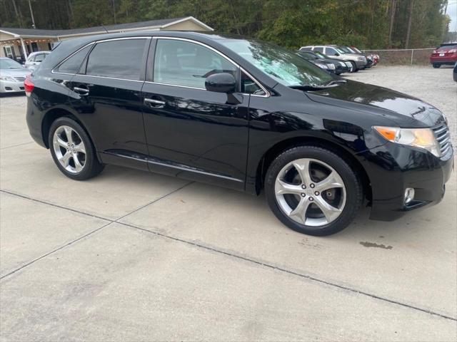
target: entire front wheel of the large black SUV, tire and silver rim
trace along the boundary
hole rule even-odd
[[[283,224],[316,236],[346,228],[363,201],[356,172],[335,153],[316,146],[293,147],[278,155],[268,168],[265,192]]]

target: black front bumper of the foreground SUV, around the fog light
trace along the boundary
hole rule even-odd
[[[362,154],[371,182],[370,219],[382,221],[441,202],[454,168],[453,147],[438,158],[425,150],[388,142]],[[415,190],[415,196],[405,204],[407,187]]]

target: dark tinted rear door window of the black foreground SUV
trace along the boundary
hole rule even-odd
[[[146,39],[97,43],[89,54],[86,74],[139,80]]]

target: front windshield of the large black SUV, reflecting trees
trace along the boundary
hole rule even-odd
[[[322,86],[333,81],[329,73],[294,51],[254,40],[224,39],[220,42],[285,86]]]

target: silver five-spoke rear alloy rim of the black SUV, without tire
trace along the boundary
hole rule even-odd
[[[52,139],[57,160],[70,173],[81,172],[86,165],[86,147],[76,130],[70,126],[59,126]]]

